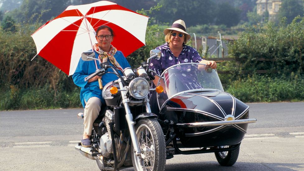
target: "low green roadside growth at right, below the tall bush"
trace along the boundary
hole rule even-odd
[[[233,81],[225,91],[243,102],[303,101],[304,78],[253,75]]]

